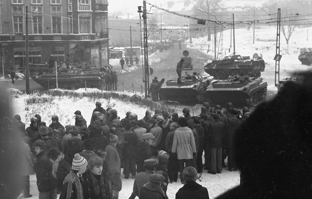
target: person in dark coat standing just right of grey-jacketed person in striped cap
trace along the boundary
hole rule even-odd
[[[123,148],[123,161],[124,161],[124,174],[125,179],[129,179],[129,173],[132,179],[136,178],[136,148],[137,148],[137,135],[131,131],[131,123],[129,119],[124,119],[125,132],[125,146]]]

